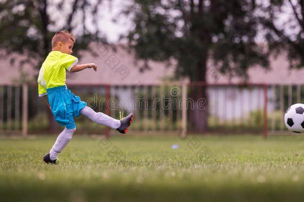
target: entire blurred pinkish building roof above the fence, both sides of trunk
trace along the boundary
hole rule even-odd
[[[123,45],[94,45],[93,53],[82,51],[82,57],[79,64],[94,62],[98,65],[98,71],[85,69],[81,72],[67,72],[67,84],[111,84],[111,85],[129,85],[129,84],[159,84],[164,78],[174,78],[174,65],[150,61],[150,70],[140,72],[142,61],[136,62],[134,54],[128,51]],[[15,58],[15,63],[10,64],[10,59]],[[30,64],[18,65],[23,56],[18,54],[9,57],[0,58],[0,85],[15,83],[15,80],[32,79],[36,80],[38,73]],[[22,74],[20,72],[23,72]],[[267,83],[267,84],[304,84],[304,68],[300,70],[290,70],[287,57],[282,54],[277,58],[272,57],[270,70],[265,70],[260,66],[249,69],[248,83]],[[240,78],[230,79],[226,75],[219,74],[211,66],[208,67],[207,82],[216,83],[240,83]]]

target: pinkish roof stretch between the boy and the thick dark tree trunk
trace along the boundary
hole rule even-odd
[[[140,72],[142,61],[136,62],[134,54],[124,46],[95,45],[94,54],[89,51],[81,53],[79,64],[94,62],[98,71],[85,69],[72,74],[67,78],[69,84],[157,84],[174,73],[172,66],[161,62],[149,62],[151,70]]]

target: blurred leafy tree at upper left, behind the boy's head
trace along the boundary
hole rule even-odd
[[[3,0],[0,1],[0,49],[4,56],[11,53],[26,55],[22,63],[40,68],[51,51],[51,38],[65,29],[76,35],[73,48],[86,49],[92,41],[103,40],[98,22],[102,0]],[[90,49],[89,49],[90,50]],[[49,112],[50,129],[57,124]]]

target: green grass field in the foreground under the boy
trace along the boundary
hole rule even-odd
[[[0,138],[1,202],[304,199],[304,136],[75,136],[45,165],[55,139]]]

